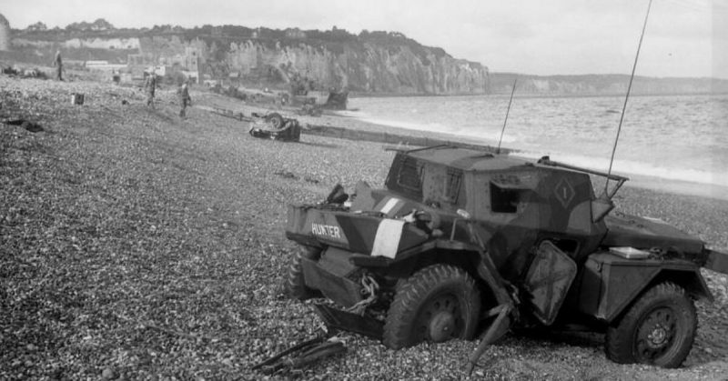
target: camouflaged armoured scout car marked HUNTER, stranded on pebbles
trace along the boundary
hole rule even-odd
[[[596,197],[592,175],[612,190]],[[338,185],[325,202],[288,206],[301,250],[286,287],[329,298],[344,309],[319,314],[390,348],[487,328],[481,352],[509,327],[579,326],[605,332],[618,363],[680,366],[693,299],[712,298],[700,267],[728,273],[728,255],[662,221],[610,215],[626,180],[548,157],[400,151],[384,189],[360,182],[349,197]]]

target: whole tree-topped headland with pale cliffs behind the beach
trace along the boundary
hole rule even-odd
[[[55,49],[70,60],[109,59],[124,64],[197,63],[201,78],[278,82],[304,78],[319,89],[348,87],[377,94],[484,94],[488,68],[455,59],[397,33],[261,30],[211,27],[48,35],[23,33],[16,50],[50,62]],[[311,35],[311,36],[307,36]],[[31,50],[33,52],[31,53]]]

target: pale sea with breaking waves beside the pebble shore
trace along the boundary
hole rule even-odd
[[[352,98],[347,114],[498,145],[508,104],[507,95]],[[624,96],[516,96],[501,146],[606,172],[623,104]],[[614,157],[612,172],[638,185],[728,198],[728,95],[630,97]]]

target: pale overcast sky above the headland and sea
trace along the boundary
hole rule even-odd
[[[14,28],[244,25],[398,31],[493,72],[629,74],[649,0],[5,0]],[[8,4],[9,3],[9,4]],[[728,0],[653,0],[637,75],[728,78]]]

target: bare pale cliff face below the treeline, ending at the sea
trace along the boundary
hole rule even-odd
[[[255,41],[231,43],[225,62],[249,74],[275,67],[281,76],[295,74],[351,90],[396,94],[478,94],[486,91],[488,69],[480,64],[436,55],[418,55],[407,45],[344,45],[341,52],[299,44],[268,47]]]

